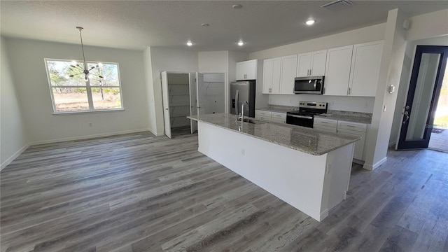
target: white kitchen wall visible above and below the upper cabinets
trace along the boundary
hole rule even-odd
[[[308,41],[282,45],[268,50],[253,52],[249,55],[251,59],[269,59],[294,55],[302,52],[312,52],[328,48],[337,48],[344,45],[353,45],[356,43],[365,43],[370,41],[379,41],[384,38],[384,29],[386,24],[372,25],[351,31],[345,31],[339,34],[314,38]],[[262,66],[262,60],[259,60]],[[262,67],[261,67],[262,70]],[[260,71],[261,72],[261,71]],[[262,75],[258,76],[258,83],[262,84]],[[373,112],[374,97],[332,97],[310,94],[269,94],[269,104],[282,106],[298,106],[299,101],[328,102],[328,109],[355,111],[355,112]]]

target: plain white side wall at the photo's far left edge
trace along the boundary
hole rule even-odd
[[[0,48],[0,169],[3,169],[22,151],[25,151],[29,140],[25,130],[25,118],[22,116],[22,108],[10,71],[8,45],[3,37],[1,37]]]

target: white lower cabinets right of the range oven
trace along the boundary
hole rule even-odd
[[[365,134],[367,132],[367,124],[353,123],[342,120],[332,120],[327,118],[314,118],[314,129],[323,130],[325,132],[346,134],[353,137],[361,137],[355,143],[355,151],[353,158],[364,160]]]

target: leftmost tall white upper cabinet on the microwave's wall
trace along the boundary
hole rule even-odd
[[[280,91],[281,58],[265,59],[263,61],[263,94],[278,94]]]

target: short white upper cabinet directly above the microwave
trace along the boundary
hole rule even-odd
[[[325,75],[327,50],[300,53],[297,56],[297,77]]]

